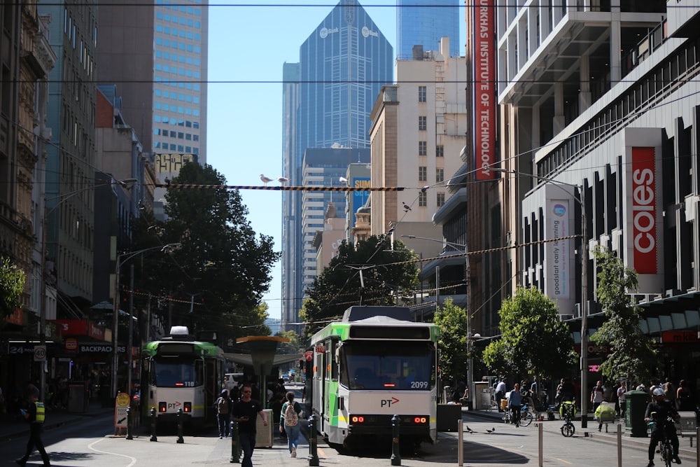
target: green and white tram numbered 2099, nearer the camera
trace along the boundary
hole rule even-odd
[[[435,442],[438,335],[405,307],[350,307],[318,331],[307,387],[319,433],[351,447],[390,436],[398,415],[402,442]]]

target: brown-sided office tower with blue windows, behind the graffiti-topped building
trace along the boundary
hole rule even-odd
[[[118,1],[99,8],[97,76],[117,85],[124,119],[144,151],[206,162],[207,0]],[[162,158],[157,169],[177,172],[181,160]]]

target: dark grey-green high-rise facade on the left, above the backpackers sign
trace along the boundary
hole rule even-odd
[[[57,62],[49,76],[45,146],[48,284],[59,309],[74,313],[92,305],[94,231],[94,115],[97,79],[97,6],[39,1],[50,16],[50,45]]]

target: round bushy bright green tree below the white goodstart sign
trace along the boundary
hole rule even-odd
[[[500,340],[484,349],[492,370],[549,379],[566,374],[576,362],[571,331],[538,288],[518,287],[498,314]]]

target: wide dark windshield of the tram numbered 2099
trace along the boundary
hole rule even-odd
[[[339,352],[340,383],[349,389],[426,391],[435,386],[429,342],[347,341]]]

